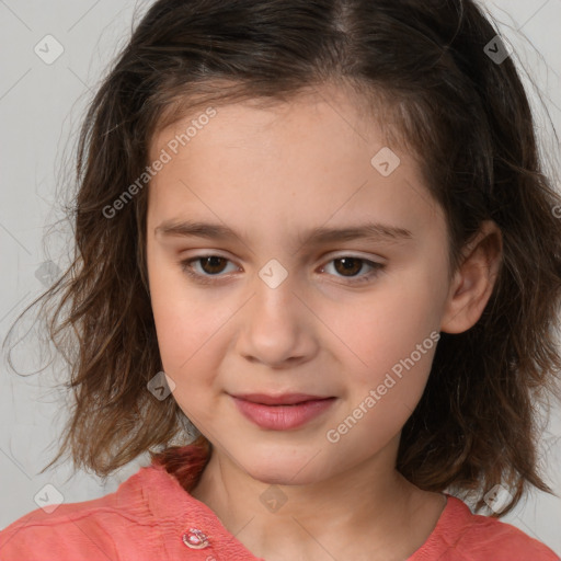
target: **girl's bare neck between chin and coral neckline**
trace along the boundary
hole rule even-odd
[[[375,457],[323,481],[270,484],[213,450],[191,494],[256,557],[407,559],[444,507],[393,468],[399,438]]]

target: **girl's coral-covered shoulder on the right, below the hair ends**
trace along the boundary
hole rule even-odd
[[[428,545],[439,548],[443,561],[560,561],[560,557],[542,542],[497,518],[472,514],[466,503],[451,495],[448,495],[446,508],[425,543]],[[425,558],[413,559],[421,561]]]

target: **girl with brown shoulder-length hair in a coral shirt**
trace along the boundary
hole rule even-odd
[[[158,0],[78,180],[54,461],[152,461],[3,561],[559,559],[497,517],[551,492],[561,201],[472,0]]]

